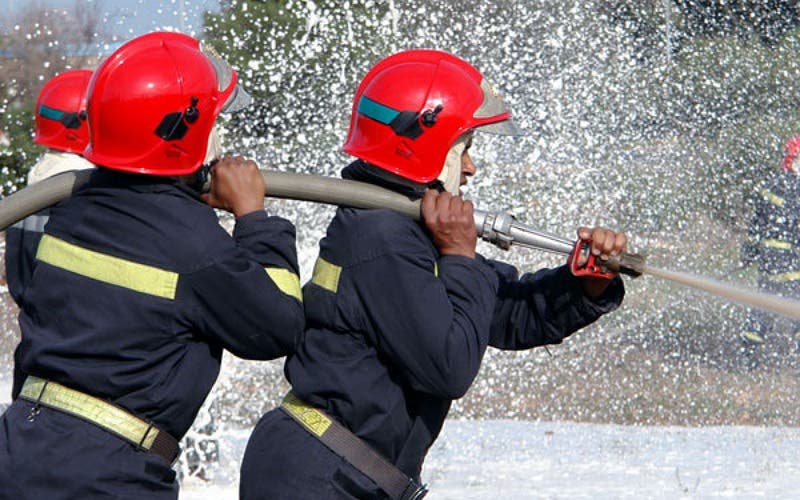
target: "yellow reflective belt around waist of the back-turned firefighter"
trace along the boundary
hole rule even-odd
[[[19,397],[36,404],[29,420],[36,418],[38,406],[47,406],[96,425],[135,445],[154,453],[170,465],[180,455],[178,441],[147,422],[108,401],[70,389],[56,382],[28,377]]]

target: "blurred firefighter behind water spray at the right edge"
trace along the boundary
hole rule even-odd
[[[800,298],[800,137],[791,139],[784,152],[780,171],[767,181],[756,201],[741,261],[757,264],[758,285],[765,292]],[[745,345],[764,344],[774,324],[774,315],[750,310],[742,332]],[[800,349],[800,322],[793,321],[791,328]]]

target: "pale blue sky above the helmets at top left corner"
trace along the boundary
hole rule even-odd
[[[0,10],[18,12],[34,3],[69,9],[76,1],[97,4],[106,27],[122,39],[162,28],[199,34],[203,12],[219,9],[218,0],[0,0],[8,8]]]

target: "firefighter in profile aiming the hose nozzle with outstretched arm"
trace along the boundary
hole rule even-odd
[[[475,253],[460,186],[484,131],[519,133],[491,84],[451,54],[400,52],[359,85],[344,146],[357,160],[342,175],[421,198],[424,223],[336,212],[303,289],[292,389],[250,437],[241,498],[420,498],[425,455],[488,345],[557,344],[621,303],[619,277],[568,266],[520,277]],[[579,234],[601,258],[626,248],[621,233]]]

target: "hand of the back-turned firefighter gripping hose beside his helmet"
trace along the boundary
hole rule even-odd
[[[253,160],[241,156],[221,158],[211,169],[211,189],[201,195],[214,208],[240,217],[264,209],[266,186]]]

